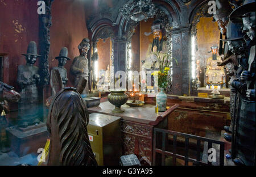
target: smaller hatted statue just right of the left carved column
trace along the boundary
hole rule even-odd
[[[62,80],[62,83],[63,83],[63,87],[65,87],[67,85],[67,82],[68,82],[68,74],[67,74],[67,69],[64,68],[64,65],[67,63],[67,60],[70,60],[70,58],[68,58],[68,49],[67,49],[67,47],[63,47],[60,50],[60,55],[55,57],[55,58],[57,60],[59,60],[59,65],[52,68],[52,71],[53,70],[59,70],[61,80]]]

